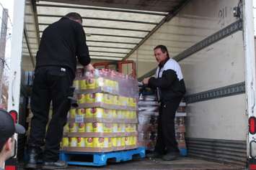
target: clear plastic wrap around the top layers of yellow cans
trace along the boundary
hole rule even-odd
[[[128,98],[138,98],[138,81],[114,70],[102,69],[84,72],[73,84],[75,93],[110,93]]]

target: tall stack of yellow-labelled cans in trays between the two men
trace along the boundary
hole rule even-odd
[[[113,70],[76,72],[79,107],[64,127],[63,151],[110,152],[137,148],[138,82]]]

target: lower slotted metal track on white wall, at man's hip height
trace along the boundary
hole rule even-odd
[[[245,93],[245,82],[239,82],[234,85],[224,86],[205,92],[195,93],[193,95],[185,96],[186,103],[195,103],[204,100],[211,100],[215,98],[224,98],[231,95],[239,95]]]

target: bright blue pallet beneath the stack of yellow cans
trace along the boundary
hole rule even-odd
[[[91,155],[93,156],[93,161],[71,161],[70,156],[75,155]],[[139,147],[127,151],[112,151],[106,153],[92,153],[92,152],[69,152],[61,151],[60,160],[66,161],[69,165],[79,165],[79,166],[105,166],[107,165],[107,159],[115,159],[115,162],[120,161],[130,161],[133,159],[133,156],[139,155],[141,158],[145,157],[145,148]]]

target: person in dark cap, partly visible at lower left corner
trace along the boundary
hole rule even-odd
[[[14,123],[12,115],[0,109],[0,170],[4,170],[5,161],[12,156],[14,133],[23,134],[25,128]]]

